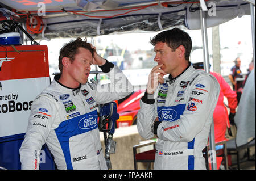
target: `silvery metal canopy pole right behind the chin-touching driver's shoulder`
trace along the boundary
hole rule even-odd
[[[203,41],[203,53],[204,53],[204,70],[207,73],[210,73],[210,65],[209,65],[209,52],[208,52],[208,37],[207,37],[207,25],[206,25],[206,12],[201,9],[200,6],[200,20],[201,20],[201,32],[202,32],[202,41]],[[214,123],[212,121],[212,125],[210,126],[210,134],[209,134],[209,146],[210,146],[210,164],[212,166],[212,170],[217,170],[216,164],[216,149],[215,149],[215,138],[214,138]],[[208,154],[208,153],[207,153]]]

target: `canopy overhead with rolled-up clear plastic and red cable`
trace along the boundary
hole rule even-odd
[[[205,2],[208,27],[250,14],[249,3],[242,0]],[[44,31],[29,31],[34,39],[160,31],[174,26],[201,28],[199,1],[2,0],[1,4],[17,10],[23,21],[40,15],[38,23],[42,23]],[[46,11],[42,11],[44,8]]]

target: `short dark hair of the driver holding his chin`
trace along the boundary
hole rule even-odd
[[[166,30],[158,33],[150,43],[155,46],[156,43],[163,42],[175,51],[180,45],[185,47],[185,60],[189,60],[189,55],[192,49],[191,37],[188,33],[180,30],[179,28],[173,28],[171,30]]]

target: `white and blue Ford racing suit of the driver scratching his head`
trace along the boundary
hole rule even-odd
[[[39,169],[39,152],[45,143],[57,169],[108,169],[101,148],[97,104],[129,95],[132,86],[116,66],[107,75],[111,83],[104,87],[87,82],[77,89],[61,85],[55,77],[35,98],[19,150],[22,169]]]

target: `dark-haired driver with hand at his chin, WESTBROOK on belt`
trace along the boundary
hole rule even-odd
[[[205,169],[202,150],[220,85],[211,74],[193,68],[188,61],[191,38],[179,28],[159,33],[151,44],[158,65],[148,76],[137,128],[143,138],[158,137],[154,169]]]

